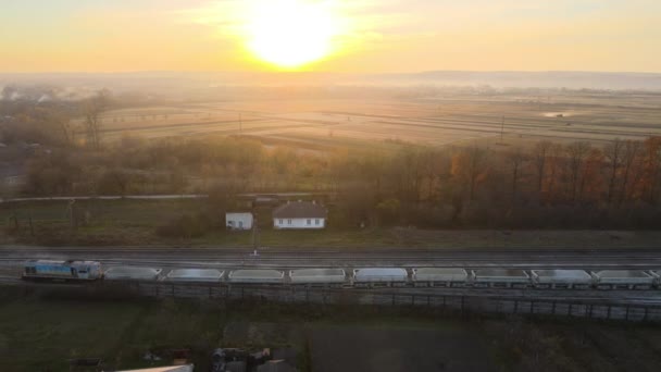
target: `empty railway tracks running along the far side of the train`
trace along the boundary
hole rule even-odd
[[[162,266],[460,266],[661,270],[661,248],[252,249],[155,247],[0,247],[0,264],[27,259],[87,259],[105,264]]]

